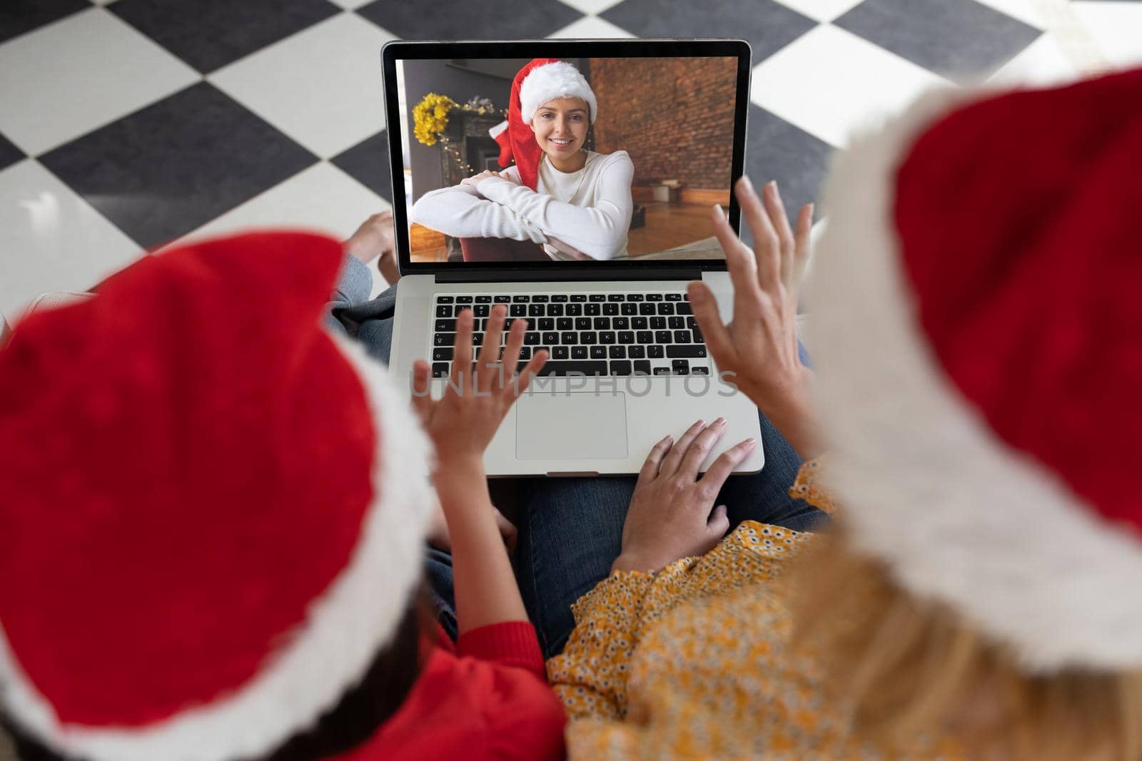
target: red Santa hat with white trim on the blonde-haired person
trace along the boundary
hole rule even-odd
[[[1142,666],[1142,71],[838,155],[806,290],[858,549],[1031,672]]]

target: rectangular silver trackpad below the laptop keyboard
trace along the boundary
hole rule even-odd
[[[627,456],[626,394],[524,394],[515,404],[520,460]]]

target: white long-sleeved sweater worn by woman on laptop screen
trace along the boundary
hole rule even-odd
[[[537,191],[520,185],[520,170],[473,187],[432,191],[412,207],[412,221],[453,237],[509,237],[544,244],[553,259],[612,259],[627,250],[634,164],[626,151],[587,152],[577,172],[539,162]],[[506,179],[505,179],[506,178]],[[561,199],[568,199],[562,201]]]

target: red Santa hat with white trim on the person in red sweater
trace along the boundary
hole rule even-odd
[[[0,706],[90,761],[232,761],[359,683],[421,574],[431,451],[321,327],[336,241],[172,250],[0,350]]]

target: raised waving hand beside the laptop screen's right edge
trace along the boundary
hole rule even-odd
[[[812,372],[797,353],[797,283],[809,259],[813,207],[801,209],[795,234],[777,183],[758,197],[742,177],[735,195],[756,251],[738,240],[715,208],[714,232],[733,281],[733,319],[722,323],[714,294],[701,282],[690,283],[690,301],[718,370],[734,373],[727,380],[807,459],[817,452],[815,423],[809,400]]]

